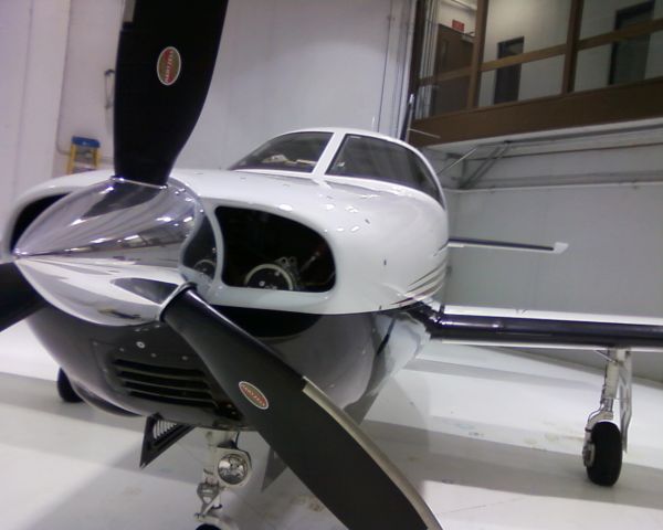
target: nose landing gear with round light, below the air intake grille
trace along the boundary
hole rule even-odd
[[[251,477],[251,457],[238,449],[238,433],[209,431],[206,434],[209,449],[208,463],[198,485],[202,501],[196,520],[202,524],[197,530],[239,530],[239,527],[221,513],[221,494],[227,488],[240,488]]]

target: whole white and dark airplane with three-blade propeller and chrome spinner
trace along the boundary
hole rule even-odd
[[[15,203],[0,248],[0,329],[30,316],[63,367],[65,398],[147,416],[143,465],[193,427],[209,430],[200,529],[229,528],[220,496],[251,475],[235,444],[244,430],[348,528],[440,529],[356,423],[430,337],[604,350],[583,457],[594,483],[614,484],[630,353],[662,348],[661,322],[432,301],[452,246],[564,245],[450,237],[429,162],[373,132],[299,130],[228,171],[172,170],[207,95],[225,7],[128,2],[115,171],[54,179]]]

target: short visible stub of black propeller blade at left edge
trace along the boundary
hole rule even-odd
[[[0,265],[0,331],[29,317],[43,304],[13,263]]]

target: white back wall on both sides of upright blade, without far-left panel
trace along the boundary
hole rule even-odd
[[[72,0],[59,145],[73,135],[113,152],[104,72],[122,0]],[[231,0],[212,86],[178,161],[227,167],[276,134],[350,126],[394,134],[409,63],[408,0]],[[64,167],[60,157],[59,169]]]

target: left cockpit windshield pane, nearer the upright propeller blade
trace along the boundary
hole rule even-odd
[[[291,132],[271,139],[230,169],[313,172],[332,132]]]

